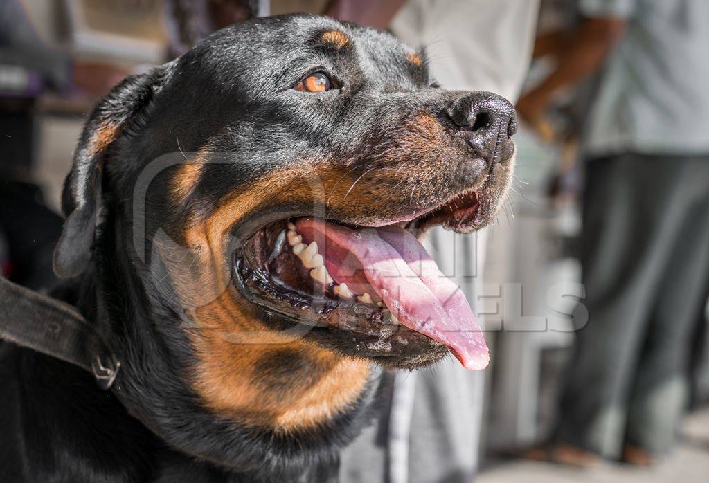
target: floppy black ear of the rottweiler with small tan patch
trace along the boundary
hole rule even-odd
[[[146,74],[128,76],[99,102],[84,125],[62,192],[65,215],[62,236],[54,251],[54,271],[60,277],[82,273],[101,212],[101,175],[106,150],[126,129],[135,128],[140,114],[167,82],[174,62]]]

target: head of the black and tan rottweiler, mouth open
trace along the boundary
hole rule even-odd
[[[314,16],[226,28],[94,110],[55,267],[98,265],[130,299],[118,312],[147,307],[150,351],[206,413],[325,431],[354,420],[372,363],[486,365],[474,314],[416,237],[493,219],[515,129],[507,101],[439,89],[387,33]],[[121,331],[128,357],[145,346]],[[135,356],[135,377],[152,358]]]

